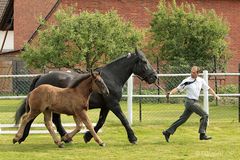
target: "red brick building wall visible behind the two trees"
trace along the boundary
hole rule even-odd
[[[169,0],[171,1],[171,0]],[[15,0],[14,4],[14,38],[15,49],[20,49],[38,27],[38,17],[45,17],[57,0]],[[117,10],[126,20],[132,21],[137,27],[149,27],[151,16],[146,10],[155,11],[159,0],[62,0],[61,4],[77,5],[78,10],[106,12]],[[214,9],[229,22],[230,34],[227,37],[233,53],[228,63],[228,72],[238,72],[240,59],[240,1],[238,0],[177,0],[177,3],[191,2],[197,9]]]

